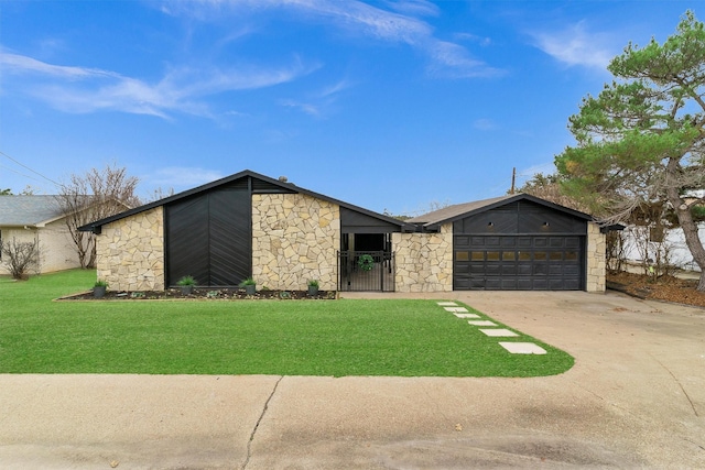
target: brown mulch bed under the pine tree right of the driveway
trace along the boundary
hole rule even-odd
[[[697,281],[673,276],[661,276],[653,281],[642,274],[623,272],[607,274],[607,288],[650,300],[705,307],[705,292],[698,292],[695,287],[697,287]]]

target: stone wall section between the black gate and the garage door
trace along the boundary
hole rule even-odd
[[[397,292],[453,291],[453,223],[440,233],[392,233]]]

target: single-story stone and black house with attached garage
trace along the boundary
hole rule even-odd
[[[97,275],[120,291],[186,275],[291,291],[605,291],[599,226],[523,194],[402,221],[243,171],[80,230],[97,234]]]

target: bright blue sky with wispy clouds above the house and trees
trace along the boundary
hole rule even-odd
[[[687,1],[8,1],[0,188],[242,170],[417,214],[551,173],[567,118]],[[698,19],[705,20],[703,17]]]

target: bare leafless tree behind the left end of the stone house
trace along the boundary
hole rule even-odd
[[[140,205],[135,196],[139,178],[128,176],[127,168],[106,165],[102,171],[89,170],[85,175],[72,175],[56,197],[66,227],[76,247],[82,267],[95,267],[96,240],[78,227],[115,216]]]

